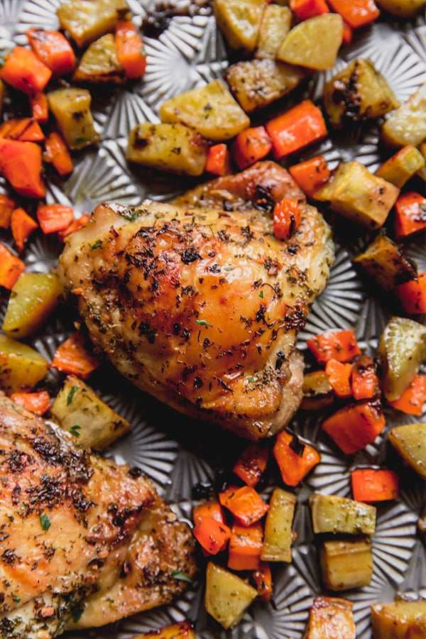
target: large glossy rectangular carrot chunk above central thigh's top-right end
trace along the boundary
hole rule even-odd
[[[322,112],[311,100],[304,100],[269,120],[265,127],[278,160],[327,136]]]

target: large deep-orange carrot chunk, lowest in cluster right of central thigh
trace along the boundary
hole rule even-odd
[[[322,428],[345,454],[353,454],[371,444],[385,422],[381,403],[376,400],[340,408],[322,422]]]

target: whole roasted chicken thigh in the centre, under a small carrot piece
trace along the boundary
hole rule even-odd
[[[329,226],[305,202],[292,239],[274,238],[271,206],[286,193],[302,200],[268,162],[172,204],[100,204],[58,268],[95,346],[135,386],[249,439],[300,405],[295,341],[333,260]]]

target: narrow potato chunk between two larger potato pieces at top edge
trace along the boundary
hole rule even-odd
[[[255,58],[275,58],[279,45],[290,31],[293,14],[288,6],[267,4],[263,10]]]

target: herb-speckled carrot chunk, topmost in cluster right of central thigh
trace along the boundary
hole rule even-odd
[[[320,333],[307,339],[306,345],[318,364],[327,364],[329,359],[352,361],[357,355],[361,355],[354,331],[351,330]]]

